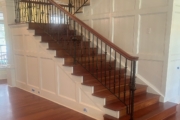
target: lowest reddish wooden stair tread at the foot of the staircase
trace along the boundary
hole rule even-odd
[[[134,112],[134,119],[135,120],[162,120],[164,117],[170,116],[171,114],[175,113],[176,105],[171,102],[166,103],[156,103],[150,105],[146,108],[140,109]],[[172,110],[171,110],[172,109]],[[114,118],[109,115],[104,115],[104,120],[129,120],[130,116],[126,115],[123,117]]]

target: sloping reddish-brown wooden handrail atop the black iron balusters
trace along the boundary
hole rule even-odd
[[[95,30],[93,30],[91,27],[89,27],[88,25],[86,25],[84,22],[82,22],[80,19],[78,19],[77,17],[75,17],[74,15],[70,14],[69,12],[67,12],[64,8],[62,8],[59,4],[57,4],[56,2],[54,2],[53,0],[48,0],[50,3],[52,3],[53,5],[55,5],[57,8],[59,8],[61,11],[63,11],[64,13],[66,13],[72,20],[76,21],[77,23],[79,23],[81,26],[83,26],[85,29],[87,29],[88,31],[90,31],[93,35],[95,35],[96,37],[98,37],[100,40],[102,40],[104,43],[106,43],[107,45],[109,45],[111,48],[113,48],[116,52],[118,52],[119,54],[123,55],[125,58],[127,58],[128,60],[133,60],[133,61],[137,61],[139,59],[139,57],[136,56],[132,56],[130,54],[128,54],[127,52],[125,52],[124,50],[122,50],[121,48],[119,48],[118,46],[116,46],[115,44],[113,44],[112,42],[110,42],[108,39],[106,39],[104,36],[100,35],[98,32],[96,32]]]

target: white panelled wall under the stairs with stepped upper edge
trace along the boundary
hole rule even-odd
[[[48,44],[40,43],[41,37],[33,36],[26,24],[10,25],[10,29],[16,87],[98,120],[104,114],[119,116],[104,108],[105,99],[92,96],[93,87],[81,85],[82,76],[71,75],[73,68],[64,67],[64,59],[55,58],[56,52],[47,50]]]

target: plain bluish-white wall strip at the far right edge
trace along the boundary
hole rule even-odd
[[[180,103],[180,0],[173,5],[166,96],[166,100]]]

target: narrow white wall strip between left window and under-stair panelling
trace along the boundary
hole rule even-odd
[[[9,86],[14,86],[14,78],[15,78],[15,70],[14,70],[14,59],[12,57],[13,49],[11,43],[11,29],[9,24],[13,24],[15,20],[15,12],[14,12],[14,0],[1,0],[1,10],[4,17],[4,28],[5,28],[5,39],[7,46],[7,58],[8,58],[8,66],[7,70],[7,80]]]

